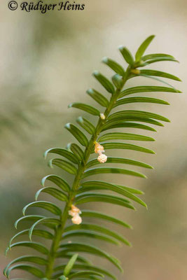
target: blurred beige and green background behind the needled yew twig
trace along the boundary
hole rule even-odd
[[[181,63],[158,62],[150,68],[179,76],[183,83],[172,84],[184,94],[155,93],[154,97],[162,97],[171,106],[141,106],[142,110],[162,113],[172,121],[164,128],[159,127],[158,133],[147,133],[156,141],[144,146],[153,148],[156,155],[123,152],[155,167],[145,171],[148,179],[127,176],[110,179],[143,190],[148,211],[139,206],[136,212],[101,204],[92,204],[92,208],[123,218],[134,228],[118,228],[132,241],[132,248],[99,244],[122,260],[123,275],[111,267],[118,279],[186,280],[186,0],[84,0],[84,11],[50,11],[44,15],[39,11],[13,12],[8,10],[7,3],[3,1],[0,5],[0,278],[5,279],[2,269],[8,260],[19,255],[15,249],[7,258],[4,256],[6,244],[15,234],[14,221],[22,216],[22,207],[34,200],[41,178],[60,172],[56,169],[51,172],[43,152],[73,141],[63,127],[67,121],[75,122],[81,111],[67,109],[68,104],[85,101],[95,106],[85,90],[92,86],[99,89],[91,76],[93,70],[111,75],[99,63],[102,57],[123,63],[118,45],[126,45],[135,52],[146,36],[155,34],[148,52],[168,52]],[[158,85],[137,78],[128,86],[145,83]],[[90,120],[95,122],[95,118]],[[110,268],[103,260],[102,265]]]

